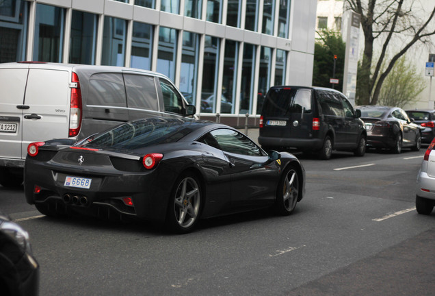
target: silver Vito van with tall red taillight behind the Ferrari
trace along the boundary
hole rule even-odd
[[[133,119],[193,116],[168,77],[117,66],[0,64],[0,184],[19,186],[27,145],[85,138]]]

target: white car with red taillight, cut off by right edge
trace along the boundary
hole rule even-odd
[[[417,194],[415,207],[419,214],[430,214],[435,206],[435,138],[421,162],[419,175],[417,175]]]

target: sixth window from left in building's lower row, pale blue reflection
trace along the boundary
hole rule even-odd
[[[176,59],[176,29],[160,27],[159,29],[159,52],[157,53],[157,72],[175,80]]]

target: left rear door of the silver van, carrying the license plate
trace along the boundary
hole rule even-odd
[[[21,159],[26,68],[0,70],[0,158]]]

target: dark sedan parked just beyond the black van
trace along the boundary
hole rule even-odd
[[[358,106],[367,130],[367,145],[400,153],[402,148],[419,151],[421,131],[404,110],[386,106]]]

